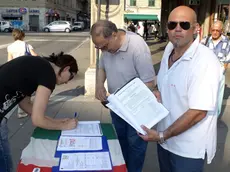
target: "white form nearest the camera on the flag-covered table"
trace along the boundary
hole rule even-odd
[[[64,153],[60,171],[112,170],[109,152]]]

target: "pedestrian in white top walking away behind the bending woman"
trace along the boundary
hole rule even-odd
[[[24,55],[37,56],[37,53],[35,53],[33,47],[24,41],[25,33],[22,30],[14,29],[12,36],[14,38],[14,43],[7,47],[8,61]],[[13,113],[17,108],[18,107],[16,106],[11,112]],[[27,116],[28,114],[18,108],[18,118],[24,118]]]

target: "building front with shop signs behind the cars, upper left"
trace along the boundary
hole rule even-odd
[[[79,12],[86,12],[87,0],[1,0],[0,20],[11,21],[14,28],[42,30],[55,20],[73,23]]]

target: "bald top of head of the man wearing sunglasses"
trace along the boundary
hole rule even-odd
[[[191,19],[191,22],[194,22],[196,23],[197,22],[197,16],[196,16],[196,13],[195,11],[188,7],[188,6],[179,6],[179,7],[176,7],[175,9],[173,9],[169,15],[169,18],[168,20],[173,16],[175,15],[176,13],[185,13],[186,16],[189,16],[190,19]]]

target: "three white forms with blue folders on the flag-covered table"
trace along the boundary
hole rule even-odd
[[[60,157],[53,171],[112,171],[107,138],[102,136],[100,121],[80,121],[73,130],[63,130],[55,157]]]

